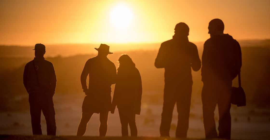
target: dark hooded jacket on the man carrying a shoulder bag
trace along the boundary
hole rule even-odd
[[[233,80],[242,66],[239,43],[228,34],[214,35],[204,43],[202,81]]]

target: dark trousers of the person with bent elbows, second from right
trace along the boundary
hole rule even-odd
[[[160,136],[170,136],[171,120],[173,117],[173,109],[176,103],[178,112],[178,122],[176,127],[176,137],[186,138],[189,113],[190,113],[190,100],[191,100],[191,84],[183,85],[168,85],[164,87],[163,97],[163,110],[161,113],[161,124],[160,124]]]

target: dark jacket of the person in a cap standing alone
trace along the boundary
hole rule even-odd
[[[23,85],[25,89],[29,94],[37,93],[40,91],[38,85],[39,82],[41,88],[48,88],[51,94],[54,94],[56,88],[56,75],[53,64],[45,60],[44,57],[41,59],[35,57],[33,61],[35,68],[32,61],[28,62],[24,67]]]

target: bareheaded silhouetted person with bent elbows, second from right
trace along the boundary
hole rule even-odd
[[[175,26],[173,39],[163,42],[157,54],[155,66],[165,68],[163,111],[160,136],[169,136],[174,105],[177,105],[178,123],[176,137],[187,137],[192,91],[191,67],[201,68],[197,46],[188,41],[189,28],[180,22]]]

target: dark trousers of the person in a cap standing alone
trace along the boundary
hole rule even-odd
[[[47,135],[56,134],[55,110],[51,95],[29,94],[30,115],[33,135],[42,135],[40,117],[41,111],[46,120]]]

